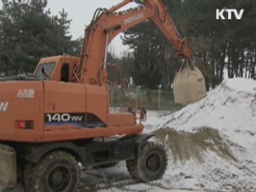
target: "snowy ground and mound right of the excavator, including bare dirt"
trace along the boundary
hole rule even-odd
[[[110,188],[99,191],[256,191],[254,80],[227,79],[200,102],[147,116],[145,132],[155,131],[170,152],[166,174],[134,183],[121,162],[100,170],[98,179],[105,175]],[[118,185],[117,178],[125,182]]]

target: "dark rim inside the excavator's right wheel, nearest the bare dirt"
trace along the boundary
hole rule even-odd
[[[146,169],[155,174],[161,167],[161,157],[159,154],[149,154],[146,159]]]

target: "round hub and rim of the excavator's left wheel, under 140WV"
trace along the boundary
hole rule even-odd
[[[70,183],[72,182],[71,173],[66,166],[57,166],[50,170],[48,177],[48,186],[50,190],[54,192],[65,191],[69,188]]]

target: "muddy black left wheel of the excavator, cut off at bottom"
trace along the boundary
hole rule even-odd
[[[66,152],[47,154],[34,166],[27,164],[24,183],[27,192],[72,192],[78,190],[80,169]]]

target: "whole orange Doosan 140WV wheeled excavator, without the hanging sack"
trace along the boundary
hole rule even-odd
[[[118,34],[151,20],[178,55],[191,53],[160,0],[118,11],[130,2],[95,11],[79,57],[42,58],[33,75],[0,79],[2,186],[20,181],[26,191],[77,191],[78,162],[89,169],[126,161],[142,182],[165,173],[166,151],[148,141],[153,134],[142,134],[144,108],[110,113],[107,48]]]

